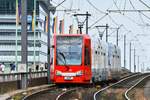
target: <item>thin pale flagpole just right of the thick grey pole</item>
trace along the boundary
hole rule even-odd
[[[36,62],[36,55],[35,55],[35,36],[36,36],[36,0],[34,0],[34,10],[33,10],[33,17],[34,17],[34,47],[33,47],[33,65],[34,65],[34,69],[35,69],[35,62]]]

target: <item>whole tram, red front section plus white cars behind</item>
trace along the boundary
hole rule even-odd
[[[119,47],[91,41],[85,34],[55,35],[50,80],[56,84],[86,84],[119,78]]]

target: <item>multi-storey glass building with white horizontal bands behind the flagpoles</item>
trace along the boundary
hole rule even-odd
[[[20,0],[18,0],[20,2]],[[19,3],[18,4],[21,4]],[[34,62],[36,65],[47,63],[47,32],[45,31],[47,14],[37,1],[36,4],[36,35],[34,47],[34,32],[32,31],[33,0],[27,4],[27,30],[28,30],[28,66]],[[19,8],[20,10],[20,8]],[[18,36],[16,38],[16,28]],[[16,48],[17,39],[17,48]],[[15,63],[17,49],[17,61],[21,62],[21,22],[16,27],[16,0],[0,0],[0,63],[9,65]],[[35,68],[32,68],[35,70]]]

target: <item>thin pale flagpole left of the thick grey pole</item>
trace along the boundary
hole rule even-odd
[[[15,65],[16,65],[16,71],[18,71],[18,58],[17,58],[17,52],[18,52],[18,0],[16,0],[16,48],[15,48]]]

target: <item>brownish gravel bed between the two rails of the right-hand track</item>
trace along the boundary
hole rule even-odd
[[[104,90],[97,95],[96,100],[125,100],[124,93],[125,91],[142,79],[145,75],[139,75],[134,78],[128,79],[127,81],[121,82]]]

